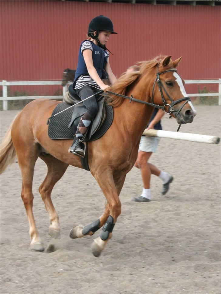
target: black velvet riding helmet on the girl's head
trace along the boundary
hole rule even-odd
[[[92,33],[96,31],[96,35],[92,35]],[[99,35],[99,31],[109,31],[111,34],[117,34],[114,32],[114,27],[112,21],[104,15],[99,15],[93,18],[88,26],[88,36],[92,39],[97,39]]]

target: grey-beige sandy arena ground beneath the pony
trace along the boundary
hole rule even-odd
[[[220,137],[220,106],[196,110],[194,122],[180,132]],[[1,139],[16,113],[0,112]],[[168,116],[162,125],[170,131],[178,127]],[[131,202],[142,191],[134,167],[121,191],[122,214],[99,258],[90,251],[99,231],[69,237],[73,225],[89,224],[104,210],[104,195],[90,172],[68,167],[53,189],[61,225],[61,239],[54,240],[38,192],[46,165],[38,159],[33,211],[45,248],[54,244],[56,249],[46,254],[29,251],[19,166],[8,167],[1,176],[1,294],[220,293],[220,144],[162,138],[150,162],[174,176],[168,194],[161,196],[161,180],[152,176],[152,201]]]

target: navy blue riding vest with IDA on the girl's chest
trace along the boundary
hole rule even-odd
[[[87,41],[87,40],[84,40],[84,41]],[[81,76],[81,75],[90,76],[88,71],[87,71],[87,66],[85,64],[83,54],[81,53],[81,45],[82,45],[83,42],[81,42],[79,52],[78,52],[77,69],[76,69],[76,72],[75,72],[73,89],[75,88],[75,85],[76,85],[76,82],[77,82],[77,79],[79,78],[79,76]],[[94,65],[95,69],[97,70],[98,76],[101,78],[102,77],[102,71],[104,70],[104,67],[105,67],[105,65],[107,63],[107,53],[104,51],[104,49],[102,49],[99,46],[95,45],[93,42],[91,42],[91,45],[93,47],[93,52],[92,52],[93,65]]]

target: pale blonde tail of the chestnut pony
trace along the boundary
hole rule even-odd
[[[14,120],[13,120],[14,121]],[[13,123],[13,122],[12,122]],[[10,125],[5,137],[0,145],[0,174],[5,171],[9,164],[12,164],[16,157],[14,145],[11,137],[12,124]]]

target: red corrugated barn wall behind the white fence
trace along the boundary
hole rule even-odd
[[[0,1],[0,80],[61,79],[63,69],[76,68],[88,23],[99,14],[118,32],[107,44],[115,75],[163,54],[183,57],[184,79],[220,78],[220,6]]]

